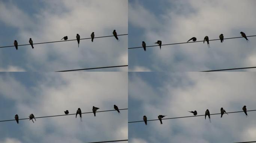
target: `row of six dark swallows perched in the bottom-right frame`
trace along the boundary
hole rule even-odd
[[[244,111],[244,113],[246,114],[246,117],[248,117],[246,105],[244,105],[243,111]],[[196,110],[195,110],[195,111],[188,111],[188,112],[193,113],[194,116],[197,115],[197,111],[196,111]],[[227,113],[223,108],[220,108],[220,118],[222,118],[223,114],[225,114],[225,113],[228,115],[228,113]],[[159,116],[158,116],[158,119],[159,119],[159,121],[160,121],[160,124],[163,124],[163,123],[162,123],[162,118],[164,118],[165,116],[167,116],[167,115],[159,115]],[[206,116],[208,116],[209,121],[210,121],[210,123],[211,123],[210,111],[209,111],[208,109],[205,111],[205,120],[206,120]],[[147,117],[146,117],[145,115],[143,116],[143,121],[144,121],[145,124],[147,125]]]

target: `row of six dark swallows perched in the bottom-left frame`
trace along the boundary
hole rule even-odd
[[[93,114],[94,114],[94,117],[96,117],[96,111],[97,111],[98,109],[100,109],[100,108],[94,107],[94,106],[92,107],[92,112],[93,112]],[[118,114],[120,114],[120,111],[119,111],[119,109],[118,109],[118,107],[117,107],[116,105],[114,105],[114,109],[115,109],[116,111],[118,111]],[[66,115],[69,114],[68,110],[64,111],[64,113],[65,113]],[[81,111],[80,108],[78,108],[77,111],[76,111],[76,117],[77,117],[77,115],[80,116],[80,121],[82,122],[82,111]],[[36,118],[35,118],[34,114],[30,114],[28,117],[29,117],[29,120],[32,120],[33,123],[34,123],[33,119],[36,121]],[[19,116],[18,116],[18,114],[16,114],[14,118],[15,118],[16,122],[19,124]]]

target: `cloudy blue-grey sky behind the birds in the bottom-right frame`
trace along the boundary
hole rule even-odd
[[[256,109],[253,72],[219,73],[129,73],[128,121],[148,120],[158,115],[183,117],[209,109],[220,113]],[[130,143],[232,143],[256,140],[256,112],[212,115],[211,123],[203,116],[129,123]]]

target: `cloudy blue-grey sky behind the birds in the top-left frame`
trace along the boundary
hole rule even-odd
[[[128,0],[0,1],[0,47],[128,33]],[[57,71],[128,64],[128,36],[0,49],[0,71]],[[91,71],[127,71],[127,67]]]

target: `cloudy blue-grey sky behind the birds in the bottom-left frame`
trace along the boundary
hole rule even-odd
[[[127,73],[0,73],[0,120],[128,108]],[[0,122],[0,143],[85,143],[128,139],[128,111],[121,110]]]

